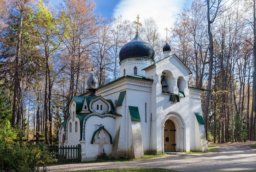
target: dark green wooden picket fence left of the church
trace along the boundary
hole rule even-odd
[[[49,146],[52,156],[60,163],[81,162],[81,145],[77,146]]]

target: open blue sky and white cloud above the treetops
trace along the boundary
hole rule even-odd
[[[50,0],[56,6],[63,0]],[[170,29],[177,14],[184,8],[191,7],[192,0],[94,0],[95,13],[100,12],[102,17],[111,18],[122,15],[131,22],[139,14],[140,22],[146,18],[153,18],[162,37],[166,36],[164,28]]]

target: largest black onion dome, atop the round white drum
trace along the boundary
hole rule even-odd
[[[153,47],[136,34],[133,40],[125,44],[119,52],[120,62],[128,57],[147,57],[154,60],[155,51]]]

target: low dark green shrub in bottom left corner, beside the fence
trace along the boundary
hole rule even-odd
[[[49,156],[47,146],[42,144],[26,146],[8,141],[0,143],[0,171],[46,171],[46,163],[55,160]]]

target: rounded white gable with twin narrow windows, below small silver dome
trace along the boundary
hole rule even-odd
[[[89,104],[90,111],[97,112],[99,114],[106,114],[111,111],[110,103],[103,99],[102,97],[98,97],[92,100]]]

